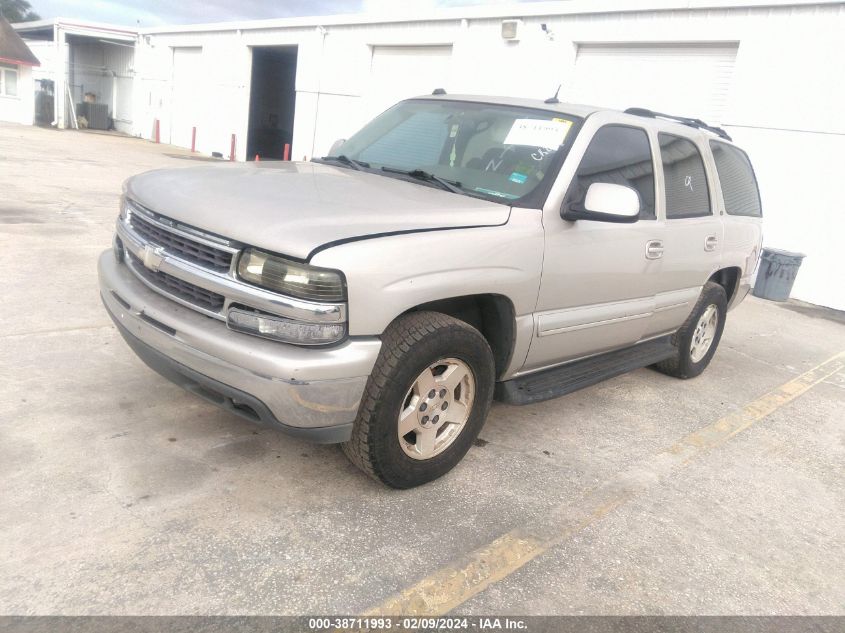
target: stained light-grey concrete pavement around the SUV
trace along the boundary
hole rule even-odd
[[[845,615],[845,371],[683,468],[653,470],[682,438],[845,351],[835,315],[749,298],[703,376],[644,369],[495,404],[453,473],[389,490],[336,447],[171,385],[111,325],[95,263],[120,183],[194,160],[0,124],[0,614],[361,613],[525,526],[563,533],[596,490],[640,473],[636,494],[524,564],[505,543],[478,592],[439,585],[444,604]]]

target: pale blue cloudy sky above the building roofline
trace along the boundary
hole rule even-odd
[[[536,1],[539,0],[29,0],[42,18],[79,18],[142,27]]]

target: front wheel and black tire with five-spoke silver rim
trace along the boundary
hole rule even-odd
[[[350,461],[392,488],[449,472],[478,437],[493,399],[485,338],[438,312],[413,312],[387,329],[358,410]]]

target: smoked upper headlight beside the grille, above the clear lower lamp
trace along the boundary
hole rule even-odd
[[[291,262],[254,248],[238,261],[238,276],[251,284],[299,299],[343,301],[346,289],[336,270]]]

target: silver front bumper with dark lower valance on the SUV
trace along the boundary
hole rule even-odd
[[[267,341],[159,295],[111,250],[98,270],[106,310],[152,369],[254,422],[321,443],[349,439],[379,339],[330,348]]]

